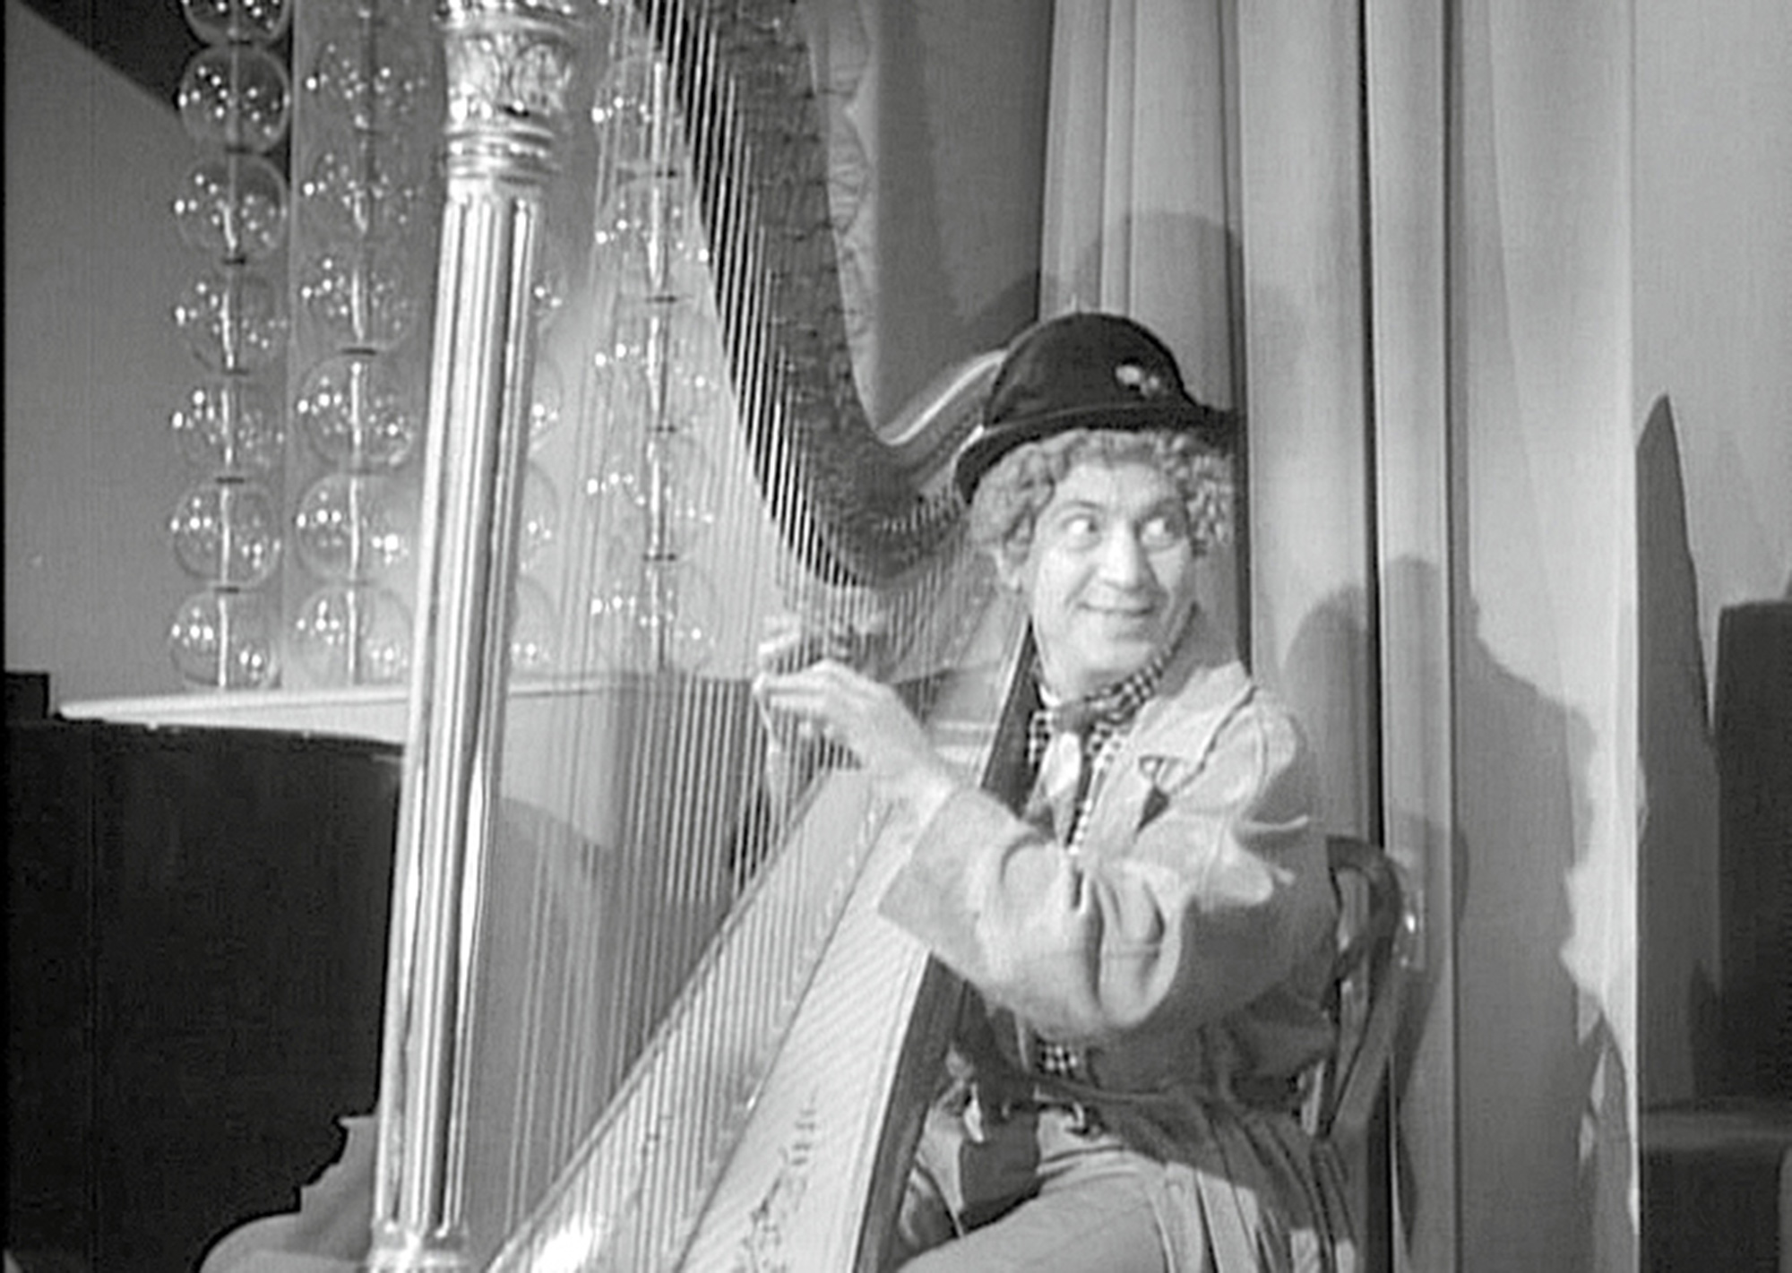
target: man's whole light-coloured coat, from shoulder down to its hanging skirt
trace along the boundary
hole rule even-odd
[[[1197,619],[1090,801],[1066,848],[966,787],[882,900],[978,992],[977,1108],[1073,1101],[1158,1164],[1172,1273],[1353,1269],[1339,1164],[1292,1112],[1331,1045],[1337,931],[1299,728]],[[1029,1074],[1032,1035],[1082,1047],[1090,1081]]]

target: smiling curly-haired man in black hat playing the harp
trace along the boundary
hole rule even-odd
[[[1353,1266],[1340,1176],[1296,1112],[1331,1044],[1314,773],[1195,604],[1229,450],[1127,319],[1009,348],[955,477],[1030,615],[1016,809],[889,687],[762,651],[767,715],[849,748],[925,827],[882,911],[971,990],[898,1219],[907,1269]]]

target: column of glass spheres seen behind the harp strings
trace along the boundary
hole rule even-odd
[[[715,586],[692,549],[717,520],[702,436],[728,394],[711,253],[667,66],[647,41],[618,48],[591,117],[609,183],[593,231],[607,265],[593,407],[609,427],[584,479],[604,545],[590,636],[600,665],[694,672],[717,647]]]

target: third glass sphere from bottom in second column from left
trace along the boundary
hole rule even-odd
[[[400,468],[423,434],[410,385],[371,353],[340,353],[306,371],[292,411],[332,468],[357,473]]]

